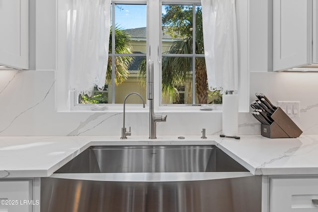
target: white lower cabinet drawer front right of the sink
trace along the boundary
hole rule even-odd
[[[318,178],[272,178],[270,212],[317,212]]]

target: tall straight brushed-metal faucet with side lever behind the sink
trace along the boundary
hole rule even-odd
[[[165,122],[167,116],[157,116],[154,112],[154,62],[148,61],[149,139],[157,139],[156,124]]]

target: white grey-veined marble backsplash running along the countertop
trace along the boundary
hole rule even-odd
[[[275,104],[300,101],[300,118],[293,119],[304,134],[318,134],[318,73],[251,72],[250,101],[265,93]],[[54,71],[0,71],[0,136],[120,136],[122,112],[56,112]],[[167,113],[157,135],[222,133],[222,113]],[[191,122],[189,121],[191,120]],[[185,124],[186,123],[186,124]],[[132,136],[148,136],[149,114],[127,113]],[[260,124],[239,113],[239,135],[259,135]]]

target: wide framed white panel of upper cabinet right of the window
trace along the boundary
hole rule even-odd
[[[273,70],[309,63],[309,0],[273,0]]]

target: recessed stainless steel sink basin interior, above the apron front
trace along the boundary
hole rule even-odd
[[[90,146],[55,173],[246,172],[215,145]]]

